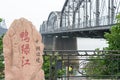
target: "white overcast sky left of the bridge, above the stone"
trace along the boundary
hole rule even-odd
[[[61,11],[65,0],[0,0],[0,17],[5,19],[7,28],[14,19],[24,17],[39,30],[51,11]]]

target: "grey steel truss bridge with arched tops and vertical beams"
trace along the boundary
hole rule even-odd
[[[40,27],[42,34],[108,31],[120,13],[120,0],[66,0]],[[94,32],[96,31],[96,32]],[[101,32],[100,32],[101,33]],[[78,34],[78,33],[77,33]]]

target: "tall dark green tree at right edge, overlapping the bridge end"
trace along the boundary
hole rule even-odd
[[[105,39],[109,46],[106,50],[120,50],[120,14],[116,16],[116,25],[112,26],[110,33],[105,33]],[[120,52],[112,52],[111,56],[105,57],[105,64],[108,65],[107,74],[120,75],[120,56],[114,54],[120,54]]]

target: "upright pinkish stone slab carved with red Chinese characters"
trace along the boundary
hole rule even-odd
[[[44,80],[42,37],[31,22],[15,20],[3,38],[5,80]]]

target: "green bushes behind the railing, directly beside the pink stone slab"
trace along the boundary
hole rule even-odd
[[[45,54],[44,55],[43,70],[45,72],[46,79],[51,78],[51,80],[56,80],[56,78],[61,77],[63,74],[65,74],[64,69],[57,68],[58,61],[61,61],[61,58],[58,54],[55,54],[55,55]]]

